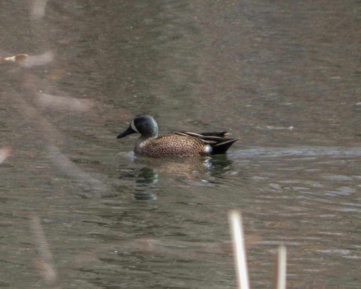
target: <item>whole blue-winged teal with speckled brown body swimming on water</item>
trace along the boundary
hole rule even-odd
[[[238,138],[225,138],[226,131],[209,133],[192,133],[175,131],[158,135],[158,125],[153,117],[136,116],[129,128],[117,138],[128,134],[140,133],[135,143],[134,152],[139,155],[162,158],[169,156],[209,156],[225,154]]]

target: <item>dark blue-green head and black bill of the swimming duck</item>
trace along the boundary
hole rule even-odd
[[[117,136],[125,137],[128,134],[140,133],[142,137],[156,137],[158,135],[158,125],[153,117],[149,115],[137,115],[133,118],[129,128]]]

